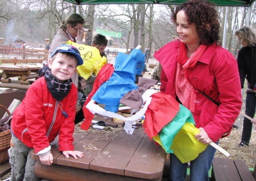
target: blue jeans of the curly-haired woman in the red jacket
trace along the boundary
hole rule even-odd
[[[217,142],[218,144],[218,142]],[[195,160],[190,161],[190,181],[208,181],[208,171],[211,168],[216,149],[211,145],[198,155]],[[186,178],[187,163],[170,153],[170,178],[169,181],[184,181]]]

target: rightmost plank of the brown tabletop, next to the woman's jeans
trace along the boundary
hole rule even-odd
[[[161,179],[166,156],[165,150],[157,146],[154,140],[150,141],[148,136],[145,135],[131,161],[125,168],[125,175],[149,180]]]

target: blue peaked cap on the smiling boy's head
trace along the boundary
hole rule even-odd
[[[77,65],[83,65],[84,64],[84,61],[81,57],[81,54],[80,54],[79,50],[76,47],[74,47],[73,45],[60,45],[60,46],[58,46],[55,49],[55,51],[53,51],[52,57],[55,54],[57,54],[58,52],[66,52],[66,53],[69,53],[69,54],[73,54],[73,55],[76,56]]]

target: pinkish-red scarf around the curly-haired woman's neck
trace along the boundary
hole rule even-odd
[[[176,72],[176,94],[183,106],[188,108],[192,113],[195,111],[195,88],[187,77],[187,69],[194,68],[198,60],[203,55],[206,45],[200,45],[198,49],[188,58],[186,44],[180,42],[177,57]]]

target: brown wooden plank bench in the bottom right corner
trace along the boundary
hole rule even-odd
[[[211,178],[214,181],[255,181],[245,161],[228,158],[213,159]]]

